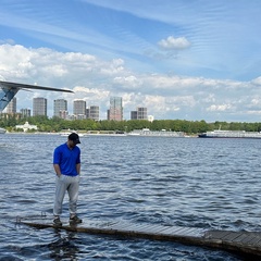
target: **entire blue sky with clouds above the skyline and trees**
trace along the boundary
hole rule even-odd
[[[260,0],[0,0],[0,79],[71,89],[107,119],[146,107],[154,120],[261,122]]]

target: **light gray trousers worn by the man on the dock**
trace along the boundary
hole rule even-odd
[[[62,203],[65,192],[69,194],[69,210],[70,214],[76,214],[77,200],[78,200],[78,188],[79,188],[79,175],[77,176],[57,176],[55,182],[55,199],[53,207],[53,215],[61,215]]]

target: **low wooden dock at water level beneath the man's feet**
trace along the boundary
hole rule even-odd
[[[151,240],[175,241],[184,245],[227,250],[238,254],[261,257],[261,232],[233,232],[198,227],[166,226],[160,224],[129,223],[126,221],[84,221],[72,225],[64,223],[61,227],[52,224],[47,216],[17,217],[17,223],[36,228],[59,228],[70,232],[103,234],[127,238],[146,238]]]

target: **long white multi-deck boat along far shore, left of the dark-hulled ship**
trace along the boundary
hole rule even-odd
[[[149,128],[134,129],[128,136],[149,136],[149,137],[185,137],[183,132],[150,130]]]

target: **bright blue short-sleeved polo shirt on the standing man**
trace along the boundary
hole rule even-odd
[[[77,176],[76,164],[78,163],[80,163],[80,149],[77,146],[70,149],[65,142],[54,149],[53,164],[60,165],[63,175]]]

